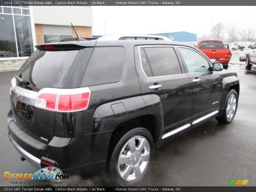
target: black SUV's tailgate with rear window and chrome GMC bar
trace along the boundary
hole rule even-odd
[[[51,141],[54,136],[55,111],[35,107],[35,99],[42,88],[63,88],[78,52],[79,49],[36,50],[18,71],[17,78],[12,79],[11,111],[20,130],[44,143]],[[27,83],[20,82],[19,78]]]

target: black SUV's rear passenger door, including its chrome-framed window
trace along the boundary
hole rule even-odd
[[[180,65],[176,48],[166,45],[135,46],[136,71],[142,95],[161,98],[164,133],[191,122],[192,94],[189,76]],[[154,89],[154,86],[159,87]],[[161,111],[159,111],[161,112]]]

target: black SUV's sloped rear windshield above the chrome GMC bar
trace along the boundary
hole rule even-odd
[[[36,50],[18,71],[17,76],[29,82],[25,88],[30,90],[62,88],[78,52],[79,50]]]

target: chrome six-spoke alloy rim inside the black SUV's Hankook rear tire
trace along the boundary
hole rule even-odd
[[[134,136],[123,146],[117,163],[119,176],[125,181],[133,181],[145,170],[149,162],[149,142],[143,136]]]

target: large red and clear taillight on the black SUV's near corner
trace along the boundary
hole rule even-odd
[[[52,111],[80,111],[88,107],[91,91],[88,87],[76,89],[43,88],[38,92],[35,106]]]

